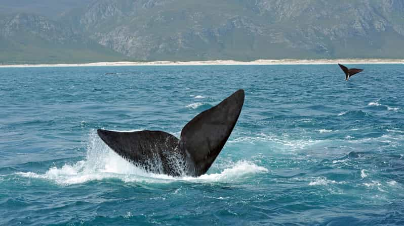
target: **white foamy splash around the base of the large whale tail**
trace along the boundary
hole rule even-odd
[[[205,174],[197,178],[153,174],[135,166],[113,152],[93,131],[90,133],[90,142],[85,160],[64,164],[59,168],[53,166],[44,174],[33,172],[18,172],[16,174],[27,178],[45,179],[65,186],[106,179],[118,179],[125,183],[229,182],[248,175],[265,172],[268,172],[265,167],[249,161],[238,161],[229,165],[228,168],[224,168],[220,173]]]

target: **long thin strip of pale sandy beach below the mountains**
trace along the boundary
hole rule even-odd
[[[233,60],[215,61],[153,61],[153,62],[98,62],[83,64],[19,64],[0,65],[0,68],[40,67],[117,67],[117,66],[213,66],[213,65],[332,65],[332,64],[404,64],[404,59],[317,59],[317,60],[256,60],[250,62]]]

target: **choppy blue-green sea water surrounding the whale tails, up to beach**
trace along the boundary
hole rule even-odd
[[[355,66],[1,68],[0,225],[403,225],[404,65]],[[95,132],[178,137],[239,88],[198,178],[147,173]]]

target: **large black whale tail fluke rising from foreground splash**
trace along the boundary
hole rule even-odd
[[[152,173],[171,176],[205,174],[229,138],[244,103],[240,89],[201,112],[181,131],[180,140],[163,131],[116,132],[98,136],[120,156]]]

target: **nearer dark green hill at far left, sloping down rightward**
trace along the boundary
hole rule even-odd
[[[125,58],[42,16],[19,13],[0,19],[0,64],[122,61]]]

